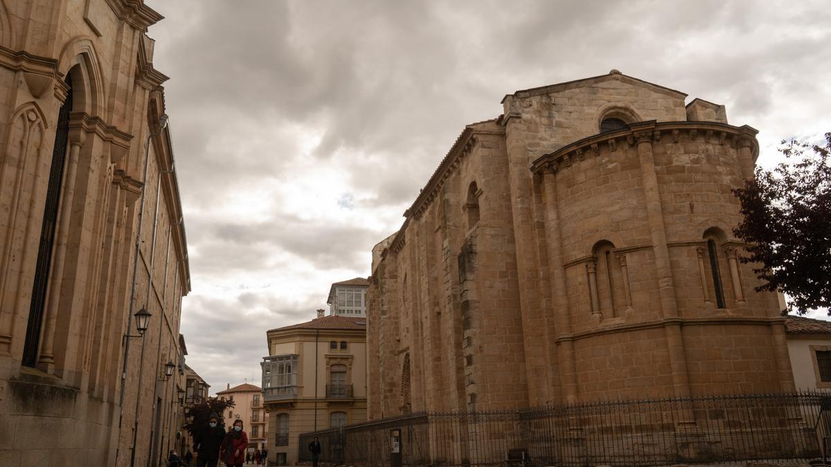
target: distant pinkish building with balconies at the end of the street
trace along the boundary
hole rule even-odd
[[[231,430],[236,420],[242,420],[248,435],[248,451],[263,450],[268,439],[268,413],[263,409],[263,390],[253,384],[243,383],[219,391],[216,396],[234,401],[225,415],[226,430]]]

